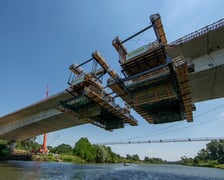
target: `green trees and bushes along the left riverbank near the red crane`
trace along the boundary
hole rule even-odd
[[[3,143],[4,142],[4,143]],[[22,142],[18,142],[16,145],[17,150],[24,150],[26,152],[38,152],[41,145],[38,144],[35,139],[29,139]],[[89,142],[87,138],[81,138],[75,143],[74,148],[69,144],[60,144],[56,147],[48,146],[49,154],[43,156],[44,158],[39,160],[46,161],[67,161],[76,163],[165,163],[160,158],[145,157],[144,160],[140,160],[138,154],[122,157],[112,151],[111,147],[104,145],[94,145]],[[0,156],[6,156],[9,153],[7,141],[0,141]],[[40,154],[38,154],[40,155]],[[36,158],[35,158],[36,159]]]

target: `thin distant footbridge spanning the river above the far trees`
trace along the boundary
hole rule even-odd
[[[224,137],[176,138],[176,139],[156,139],[156,140],[139,140],[139,141],[114,141],[114,142],[97,143],[97,145],[180,143],[180,142],[220,141],[220,140],[224,140]]]

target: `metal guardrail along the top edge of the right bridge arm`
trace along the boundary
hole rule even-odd
[[[219,29],[221,27],[224,27],[224,18],[220,19],[219,21],[217,21],[215,23],[212,23],[208,26],[205,26],[205,27],[203,27],[203,28],[201,28],[197,31],[194,31],[194,32],[182,37],[182,38],[179,38],[179,39],[169,43],[169,46],[177,46],[177,45],[186,43],[188,41],[191,41],[192,39],[195,39],[199,36],[205,35],[208,32],[214,31],[214,30]]]

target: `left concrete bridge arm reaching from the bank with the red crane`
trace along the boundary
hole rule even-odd
[[[0,139],[20,141],[45,132],[86,123],[54,109],[60,100],[69,97],[68,93],[62,92],[48,100],[1,117]]]

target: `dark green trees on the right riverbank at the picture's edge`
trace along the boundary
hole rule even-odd
[[[201,149],[194,158],[181,158],[183,165],[204,166],[204,167],[224,167],[224,140],[211,141],[205,149]]]

